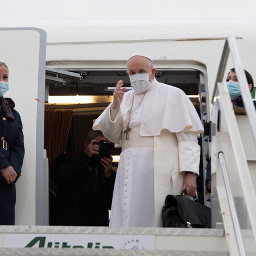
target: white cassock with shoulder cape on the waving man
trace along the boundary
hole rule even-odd
[[[199,115],[182,90],[156,79],[146,94],[131,90],[118,110],[111,105],[93,125],[122,147],[110,226],[162,226],[166,195],[181,193],[185,171],[199,174]]]

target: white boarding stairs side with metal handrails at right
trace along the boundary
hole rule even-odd
[[[222,82],[229,52],[245,109],[230,104]],[[230,255],[256,255],[256,112],[232,35],[222,52],[212,104],[212,223],[224,223]]]

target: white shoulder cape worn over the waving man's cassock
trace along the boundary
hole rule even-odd
[[[123,130],[127,126],[133,96],[134,90],[126,92],[120,106]],[[101,119],[109,111],[111,105],[96,119],[93,125],[94,130],[101,130]],[[150,90],[144,96],[140,135],[158,136],[164,129],[172,133],[195,131],[196,134],[200,134],[203,132],[199,116],[183,90],[162,84],[154,79]],[[114,143],[121,143],[121,136],[117,141],[117,138],[111,138],[110,134],[104,135]]]

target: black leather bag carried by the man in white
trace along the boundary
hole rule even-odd
[[[211,228],[211,209],[182,196],[166,196],[162,209],[165,228]]]

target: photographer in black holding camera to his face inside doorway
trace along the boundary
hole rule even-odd
[[[108,226],[115,181],[114,146],[101,131],[90,131],[84,151],[59,155],[54,225]]]

